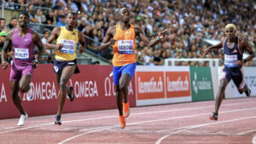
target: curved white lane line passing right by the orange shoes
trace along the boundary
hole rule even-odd
[[[247,111],[247,110],[253,110],[253,109],[256,109],[256,107],[224,111],[223,113],[225,113],[225,112],[240,112],[240,111]],[[187,116],[181,116],[181,117],[161,118],[161,119],[154,119],[154,120],[148,120],[148,121],[142,121],[142,122],[137,122],[137,123],[126,124],[126,125],[135,125],[135,124],[145,124],[145,123],[152,123],[152,122],[160,122],[160,121],[166,121],[166,120],[177,119],[177,118],[191,118],[191,117],[197,117],[197,116],[208,115],[208,114],[209,113],[201,113],[201,114],[187,115]],[[254,116],[254,117],[256,118],[256,116]],[[212,124],[218,124],[218,123],[221,123],[221,122],[212,123]],[[100,130],[93,130],[93,131],[89,131],[89,132],[82,133],[82,134],[79,134],[79,135],[74,135],[72,137],[67,138],[64,141],[59,142],[59,144],[65,143],[65,142],[70,141],[70,140],[73,140],[74,138],[79,137],[81,135],[87,135],[87,134],[90,134],[90,133],[93,133],[93,132],[102,131],[102,130],[109,130],[109,129],[113,129],[113,128],[116,128],[116,127],[118,127],[118,126],[112,126],[112,127],[109,127],[109,128],[104,128],[104,129],[100,129]],[[189,129],[191,129],[191,127],[194,128],[195,126],[189,126]],[[83,131],[83,130],[80,130],[80,131]],[[181,131],[181,130],[178,130],[178,131]]]

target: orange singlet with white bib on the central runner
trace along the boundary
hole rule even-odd
[[[113,45],[113,66],[125,66],[136,62],[134,26],[131,25],[128,30],[123,31],[119,24],[116,25],[113,39],[116,40]]]

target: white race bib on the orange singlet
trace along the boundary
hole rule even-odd
[[[133,40],[118,41],[119,54],[133,54]]]

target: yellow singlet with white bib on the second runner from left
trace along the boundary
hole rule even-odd
[[[55,59],[57,60],[75,60],[76,48],[79,42],[79,32],[75,29],[67,31],[65,26],[61,26],[60,36],[57,38],[57,44],[62,43],[61,51],[57,50]]]

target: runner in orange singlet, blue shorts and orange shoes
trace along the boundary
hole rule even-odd
[[[127,94],[128,84],[137,66],[136,55],[134,54],[135,38],[140,37],[144,43],[152,47],[160,42],[166,32],[160,32],[156,39],[149,41],[148,37],[144,36],[143,31],[139,27],[131,25],[129,21],[129,9],[120,9],[119,24],[108,28],[99,47],[99,50],[108,49],[109,46],[113,47],[113,84],[116,90],[121,129],[125,128],[125,118],[130,115]]]

